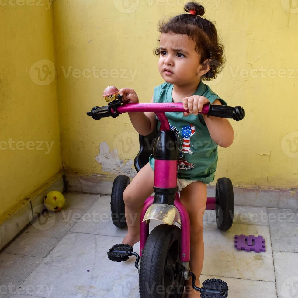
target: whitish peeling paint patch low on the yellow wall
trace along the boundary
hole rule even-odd
[[[117,175],[127,175],[133,177],[136,175],[136,170],[133,166],[133,160],[123,161],[119,159],[117,149],[109,152],[110,148],[106,142],[99,145],[99,154],[95,160],[102,165],[102,171],[110,172]]]

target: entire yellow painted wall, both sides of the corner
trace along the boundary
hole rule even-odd
[[[138,135],[128,115],[95,121],[85,113],[106,105],[107,85],[150,101],[163,83],[152,54],[158,20],[182,13],[185,2],[2,0],[0,220],[62,166],[81,175],[135,173]],[[231,120],[234,143],[219,147],[212,184],[228,176],[238,186],[297,188],[298,8],[289,0],[202,3],[226,46],[226,67],[211,88],[246,111]],[[23,143],[13,150],[9,140]],[[46,141],[54,141],[50,151]]]

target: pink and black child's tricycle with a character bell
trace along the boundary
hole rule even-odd
[[[110,86],[111,87],[111,86]],[[185,112],[182,103],[127,103],[113,87],[113,94],[104,96],[108,106],[95,106],[87,113],[95,120],[104,117],[116,118],[127,112],[154,112],[160,121],[159,131],[150,135],[139,135],[140,152],[134,165],[139,171],[153,152],[155,159],[154,196],[148,197],[140,216],[140,255],[128,244],[116,244],[107,255],[112,261],[126,261],[136,257],[135,266],[139,272],[140,298],[181,298],[185,280],[192,277],[192,287],[201,297],[217,298],[228,296],[227,283],[221,279],[207,279],[203,287],[196,286],[196,276],[190,271],[190,222],[189,214],[180,202],[177,188],[178,144],[171,131],[165,112]],[[110,92],[111,93],[111,92]],[[109,97],[108,97],[109,96]],[[188,110],[187,110],[188,111]],[[209,116],[242,120],[244,109],[240,106],[203,106],[200,113]],[[149,144],[154,141],[153,150]],[[123,192],[130,178],[119,175],[115,178],[111,194],[111,214],[113,224],[126,227]],[[228,230],[233,224],[234,194],[229,178],[219,178],[216,182],[215,197],[208,197],[206,210],[215,210],[217,227]],[[150,220],[161,222],[149,234]],[[175,223],[178,224],[178,227]]]

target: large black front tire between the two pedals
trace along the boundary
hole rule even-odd
[[[149,234],[140,262],[141,298],[181,298],[185,279],[180,270],[181,230],[175,225],[160,224]],[[171,286],[172,285],[172,286]]]

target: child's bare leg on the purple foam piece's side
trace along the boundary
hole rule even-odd
[[[207,201],[207,185],[201,181],[187,185],[180,192],[180,201],[189,213],[190,220],[190,271],[196,275],[196,286],[200,287],[200,275],[204,261],[203,215]],[[192,277],[185,281],[188,297],[200,296],[191,286]]]

